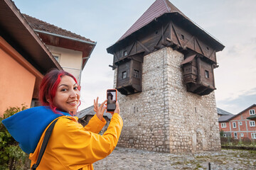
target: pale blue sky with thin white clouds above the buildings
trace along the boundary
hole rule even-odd
[[[142,16],[154,0],[13,0],[21,13],[70,30],[97,42],[82,71],[81,106],[106,98],[113,88],[113,56],[107,47]],[[217,52],[215,74],[217,107],[233,114],[256,103],[256,1],[170,0],[193,22],[218,39],[225,48]]]

